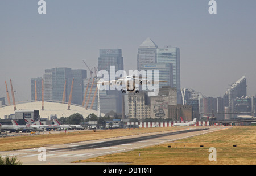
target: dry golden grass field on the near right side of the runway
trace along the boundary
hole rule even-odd
[[[200,147],[201,145],[203,147]],[[216,161],[208,159],[210,147],[216,148]],[[172,143],[77,162],[125,162],[135,165],[255,165],[256,127],[234,126],[228,130]]]

